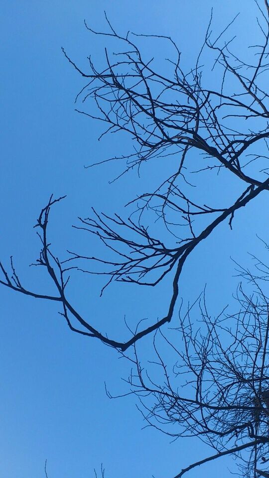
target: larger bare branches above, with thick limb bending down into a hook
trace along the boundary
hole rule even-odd
[[[179,295],[180,274],[190,253],[224,221],[232,228],[235,213],[269,190],[269,95],[266,92],[269,4],[267,0],[256,3],[260,38],[248,50],[254,52],[253,57],[249,58],[248,53],[247,59],[240,59],[232,51],[233,39],[224,40],[228,27],[234,28],[236,18],[215,37],[210,20],[196,64],[189,71],[184,71],[180,51],[169,37],[158,35],[156,38],[156,41],[166,41],[167,48],[174,48],[174,56],[167,62],[164,73],[162,68],[161,71],[155,68],[152,58],[147,55],[143,58],[135,43],[135,40],[147,41],[147,35],[128,32],[123,36],[108,19],[108,31],[104,33],[94,31],[85,23],[91,34],[105,36],[110,44],[115,42],[117,53],[112,56],[105,50],[101,70],[89,57],[89,71],[84,72],[63,50],[86,81],[77,97],[77,103],[82,105],[77,111],[104,122],[106,130],[102,136],[108,132],[130,135],[134,150],[125,157],[111,159],[125,161],[122,174],[134,168],[139,173],[146,162],[151,162],[154,169],[158,160],[162,165],[162,179],[153,191],[131,199],[127,219],[95,210],[91,217],[80,219],[76,228],[97,236],[110,249],[110,260],[97,257],[91,251],[84,256],[70,250],[67,258],[53,253],[48,238],[49,216],[52,206],[62,198],[51,197],[36,224],[41,241],[36,265],[46,269],[54,282],[55,294],[26,288],[12,258],[10,271],[3,263],[0,265],[2,285],[61,304],[61,313],[72,331],[98,338],[121,351],[171,321]],[[214,78],[219,78],[217,85],[215,79],[213,86],[204,85],[201,59],[205,50],[209,52],[208,62],[213,61]],[[90,109],[86,110],[88,104]],[[174,171],[167,175],[171,168]],[[191,182],[195,178],[194,194]],[[215,198],[217,206],[211,207],[205,205],[203,185],[206,183],[210,188],[216,181],[220,196]],[[227,181],[235,181],[238,192],[224,200]],[[158,234],[152,220],[156,217],[158,224],[162,224],[162,232],[158,230]],[[87,265],[91,262],[100,265],[100,272]],[[107,337],[106,331],[93,327],[91,321],[81,315],[79,307],[68,299],[70,277],[75,269],[103,273],[108,277],[106,285],[115,280],[152,287],[169,274],[171,294],[167,297],[167,313],[160,320],[152,318],[151,325],[145,329],[138,327],[126,342]]]

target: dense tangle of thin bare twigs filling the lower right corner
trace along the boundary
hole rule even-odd
[[[174,440],[197,437],[213,449],[175,478],[226,455],[236,458],[244,477],[269,476],[269,296],[261,286],[269,267],[261,261],[257,267],[263,278],[240,269],[251,294],[239,285],[236,313],[225,308],[212,318],[204,293],[185,313],[182,305],[170,338],[155,333],[147,363],[134,346],[127,394],[139,397],[146,423]]]

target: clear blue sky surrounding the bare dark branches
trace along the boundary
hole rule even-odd
[[[84,83],[61,46],[82,67],[89,53],[99,61],[104,43],[85,30],[83,20],[102,29],[105,9],[123,33],[170,35],[191,65],[213,3],[216,30],[242,12],[237,25],[243,48],[257,13],[252,0],[9,0],[1,5],[0,257],[7,263],[14,256],[25,284],[51,287],[39,270],[28,268],[39,250],[32,227],[51,193],[67,194],[51,222],[58,253],[74,241],[87,245],[71,229],[77,216],[87,216],[91,206],[121,212],[141,187],[135,173],[109,185],[113,165],[84,169],[119,149],[124,152],[127,143],[118,144],[116,138],[98,142],[100,124],[74,112],[75,95]],[[157,54],[165,57],[156,48]],[[238,213],[233,232],[222,225],[194,252],[181,279],[185,300],[207,282],[213,312],[229,301],[237,282],[230,256],[243,262],[249,260],[247,252],[259,251],[255,234],[268,235],[267,217],[259,214],[266,207],[265,196],[259,197]],[[113,285],[100,299],[101,285],[101,279],[74,276],[72,298],[86,318],[93,315],[96,324],[115,334],[123,330],[125,314],[132,321],[161,317],[166,310],[168,283],[156,291]],[[115,351],[72,334],[53,304],[1,288],[0,476],[44,477],[47,459],[49,478],[93,477],[101,463],[107,478],[172,478],[203,458],[207,450],[196,440],[170,444],[153,429],[141,430],[134,398],[109,400],[104,381],[111,392],[124,392],[121,377],[128,369]],[[226,478],[227,466],[233,466],[232,460],[222,459],[199,475],[213,477],[218,470],[218,477]],[[196,471],[189,474],[196,476]]]

